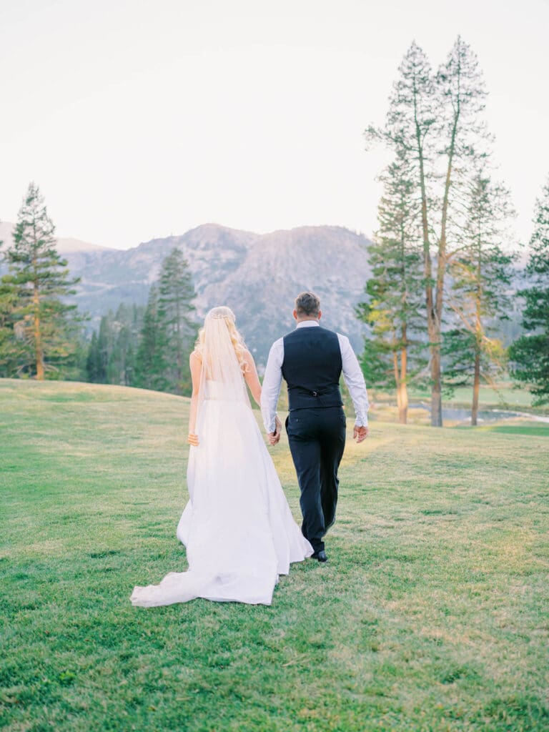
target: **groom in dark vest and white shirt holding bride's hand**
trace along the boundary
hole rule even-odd
[[[353,436],[365,440],[368,396],[364,376],[344,335],[321,328],[320,300],[312,292],[296,297],[296,329],[273,343],[261,391],[261,414],[272,445],[280,440],[277,400],[284,377],[288,384],[286,431],[296,468],[303,523],[313,559],[326,561],[323,537],[335,521],[337,468],[343,456],[346,419],[340,375],[356,412]]]

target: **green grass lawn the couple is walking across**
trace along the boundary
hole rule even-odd
[[[132,608],[186,567],[187,410],[0,380],[1,729],[548,730],[549,425],[373,421],[328,564],[294,565],[269,608]]]

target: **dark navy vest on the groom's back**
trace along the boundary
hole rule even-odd
[[[288,384],[290,411],[343,406],[337,333],[305,326],[285,335],[282,375]]]

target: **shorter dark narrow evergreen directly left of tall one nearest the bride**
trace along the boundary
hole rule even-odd
[[[158,291],[156,285],[152,285],[135,355],[135,386],[159,392],[168,390],[166,343],[165,328],[158,315]]]

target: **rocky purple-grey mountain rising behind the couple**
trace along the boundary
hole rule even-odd
[[[323,324],[348,335],[362,351],[365,327],[356,320],[354,305],[370,276],[366,244],[362,234],[338,226],[254,234],[204,224],[129,250],[85,244],[64,250],[64,256],[71,274],[81,277],[75,300],[97,326],[100,316],[121,302],[143,305],[163,258],[178,247],[193,273],[198,320],[215,305],[229,305],[264,365],[272,341],[294,327],[294,298],[303,290],[320,296]]]

